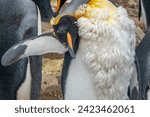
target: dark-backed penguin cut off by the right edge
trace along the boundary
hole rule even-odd
[[[137,70],[139,72],[139,99],[150,99],[150,1],[139,0],[140,16],[144,21],[146,33],[136,48]]]

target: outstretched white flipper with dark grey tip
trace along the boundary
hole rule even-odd
[[[66,51],[67,49],[52,33],[46,33],[14,45],[5,52],[1,63],[4,66],[8,66],[19,59],[32,55],[42,55],[46,53],[63,54]]]

